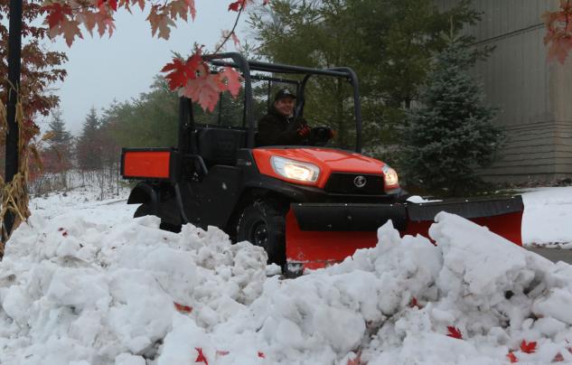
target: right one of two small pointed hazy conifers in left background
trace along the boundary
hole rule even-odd
[[[95,108],[89,110],[81,135],[76,145],[76,155],[81,170],[93,171],[101,168],[101,141],[99,119]]]

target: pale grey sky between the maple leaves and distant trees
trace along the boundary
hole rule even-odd
[[[61,98],[63,120],[74,135],[92,106],[98,110],[107,108],[113,99],[125,101],[146,92],[153,78],[171,61],[172,51],[188,55],[194,42],[204,44],[213,51],[220,41],[222,30],[230,30],[236,13],[228,12],[230,0],[195,0],[197,16],[194,23],[177,23],[168,41],[151,37],[151,27],[145,21],[146,13],[134,6],[133,15],[120,11],[116,15],[116,32],[108,38],[105,35],[90,37],[84,32],[84,39],[76,40],[71,48],[58,38],[49,45],[53,51],[65,51],[69,61],[64,65],[68,77],[55,85]],[[237,34],[240,41],[246,39],[245,20],[240,17]],[[95,33],[94,33],[95,34]],[[227,51],[235,51],[234,44],[227,43]],[[42,127],[49,118],[40,121]]]

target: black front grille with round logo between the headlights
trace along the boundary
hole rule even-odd
[[[365,178],[365,185],[355,184],[358,177]],[[361,178],[359,179],[361,180]],[[324,190],[335,194],[383,195],[383,175],[367,175],[360,173],[332,173]]]

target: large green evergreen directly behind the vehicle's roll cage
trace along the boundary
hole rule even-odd
[[[446,10],[434,0],[273,0],[251,12],[249,23],[258,52],[271,61],[356,71],[363,140],[371,147],[399,143],[395,130],[405,119],[403,107],[418,98],[432,52],[445,47],[440,34],[479,16],[469,0]],[[315,91],[305,95],[305,116],[333,126],[337,142],[352,145],[352,94],[346,83],[311,78],[309,87]]]

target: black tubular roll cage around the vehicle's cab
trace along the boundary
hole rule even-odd
[[[356,143],[355,143],[355,151],[357,153],[361,153],[361,103],[360,103],[360,90],[359,90],[359,83],[358,77],[356,73],[350,69],[349,67],[336,67],[332,69],[312,69],[309,67],[301,67],[301,66],[291,66],[285,65],[281,63],[268,63],[262,61],[247,61],[244,56],[237,52],[225,52],[225,53],[218,53],[218,54],[211,54],[211,55],[204,55],[203,60],[211,63],[214,66],[219,67],[232,67],[235,69],[240,70],[242,76],[244,78],[244,95],[245,95],[245,105],[244,105],[244,118],[248,124],[248,136],[247,136],[247,146],[248,148],[255,147],[255,129],[256,129],[256,120],[254,120],[254,116],[252,113],[253,105],[252,105],[252,80],[253,79],[261,79],[264,80],[265,78],[257,77],[256,75],[251,75],[250,72],[255,71],[262,71],[262,72],[271,72],[271,73],[292,73],[292,74],[305,74],[304,79],[299,84],[298,89],[296,90],[298,93],[298,98],[296,98],[296,110],[300,113],[300,115],[304,112],[304,94],[305,94],[305,86],[307,81],[315,75],[318,76],[331,76],[337,78],[343,78],[349,80],[352,88],[353,88],[353,108],[354,108],[354,117],[355,117],[355,127],[356,127]],[[232,61],[224,61],[224,60],[232,60]],[[266,78],[268,80],[272,80],[275,78]],[[279,79],[275,79],[279,80]],[[194,118],[192,116],[192,106],[190,101],[186,98],[181,98],[181,105],[180,105],[180,119],[179,119],[179,151],[183,151],[185,153],[194,153],[194,151],[189,151],[189,144],[188,144],[188,132],[194,130]]]

